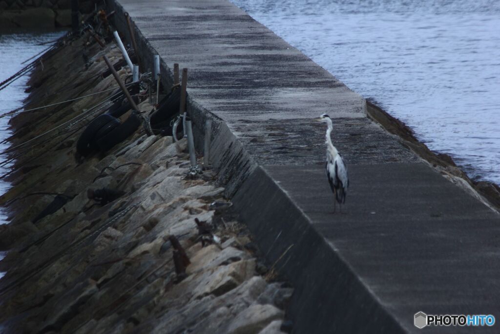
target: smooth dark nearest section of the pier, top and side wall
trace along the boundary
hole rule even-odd
[[[418,332],[418,310],[498,314],[497,214],[421,163],[355,164],[350,176],[343,214],[319,166],[259,167],[234,198],[264,251],[277,259],[293,245],[279,263],[307,286],[290,303],[294,330]]]

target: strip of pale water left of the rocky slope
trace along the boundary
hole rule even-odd
[[[0,82],[7,79],[26,64],[21,64],[25,60],[45,50],[49,45],[41,45],[64,34],[63,31],[32,33],[32,32],[16,32],[16,33],[0,33]],[[23,100],[28,96],[24,93],[28,75],[20,77],[8,87],[0,91],[0,114],[8,112],[12,109],[19,108],[23,105]],[[0,142],[11,135],[8,129],[8,117],[0,118]],[[3,152],[9,146],[8,143],[0,144],[0,152]],[[10,164],[1,166],[6,156],[0,155],[0,175],[9,171]],[[8,182],[0,179],[0,194],[4,194],[10,188]],[[7,223],[6,215],[0,207],[0,224]],[[4,257],[0,252],[0,261]],[[3,273],[0,272],[0,277]]]

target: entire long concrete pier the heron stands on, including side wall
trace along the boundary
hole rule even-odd
[[[189,108],[222,124],[214,164],[295,285],[294,332],[420,332],[417,311],[500,319],[498,214],[368,120],[359,95],[225,0],[114,3],[146,62],[159,54],[165,78],[189,68]],[[322,113],[349,166],[343,214],[331,214]]]

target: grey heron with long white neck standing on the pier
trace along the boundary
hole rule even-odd
[[[347,166],[340,153],[338,153],[335,146],[331,143],[330,134],[333,130],[331,118],[328,115],[323,114],[319,116],[317,120],[326,123],[328,126],[324,142],[326,144],[326,177],[328,178],[330,189],[335,196],[333,199],[333,212],[336,210],[336,202],[338,202],[340,212],[342,212],[341,205],[345,203],[347,187],[349,186]]]

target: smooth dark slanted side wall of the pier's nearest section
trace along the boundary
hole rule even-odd
[[[297,287],[288,310],[295,332],[404,331],[265,166],[254,170],[233,203],[273,269]]]

